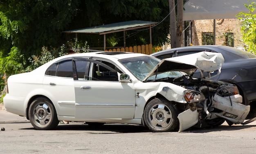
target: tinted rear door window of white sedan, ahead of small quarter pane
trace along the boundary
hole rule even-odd
[[[59,62],[56,76],[73,78],[72,61],[65,60]]]

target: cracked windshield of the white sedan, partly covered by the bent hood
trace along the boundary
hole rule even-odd
[[[126,58],[119,60],[121,64],[123,64],[138,80],[143,80],[150,71],[160,62],[158,58],[151,56],[142,56],[142,57],[134,57],[134,58]],[[170,78],[170,77],[178,77],[182,76],[179,71],[167,71],[161,74],[157,74],[157,78],[155,75],[150,76],[146,81],[153,81],[155,79],[161,78]]]

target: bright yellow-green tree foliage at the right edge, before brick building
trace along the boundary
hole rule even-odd
[[[242,40],[245,43],[245,49],[253,54],[256,54],[256,2],[250,1],[249,4],[244,4],[249,10],[249,13],[241,12],[237,18],[241,20]]]

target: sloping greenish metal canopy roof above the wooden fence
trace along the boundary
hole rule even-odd
[[[63,31],[64,33],[98,33],[99,35],[106,33],[115,33],[118,31],[127,31],[131,29],[139,29],[143,27],[150,27],[156,25],[157,22],[132,20],[126,22],[118,22],[108,25],[101,25],[95,27],[88,27],[83,29],[75,29],[70,31]]]

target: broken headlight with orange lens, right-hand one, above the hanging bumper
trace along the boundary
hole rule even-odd
[[[225,96],[232,96],[239,94],[238,88],[235,85],[221,85],[218,88],[218,95],[225,97]]]

